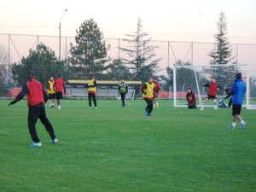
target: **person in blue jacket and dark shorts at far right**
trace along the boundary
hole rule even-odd
[[[243,102],[243,96],[246,92],[246,84],[241,79],[241,73],[236,74],[236,80],[232,85],[230,90],[230,95],[232,96],[232,116],[233,121],[230,129],[236,129],[236,120],[240,121],[241,128],[245,129],[247,127],[247,123],[241,118],[241,104]]]

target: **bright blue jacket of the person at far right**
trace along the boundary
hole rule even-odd
[[[236,105],[241,105],[245,92],[246,84],[242,81],[242,79],[236,79],[230,91],[230,94],[232,96],[232,103]]]

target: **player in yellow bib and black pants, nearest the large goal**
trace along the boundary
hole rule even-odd
[[[154,97],[154,82],[153,79],[148,79],[148,82],[143,84],[141,87],[141,91],[143,92],[143,98],[145,102],[147,102],[147,107],[145,109],[145,114],[150,116],[153,110],[153,97]]]

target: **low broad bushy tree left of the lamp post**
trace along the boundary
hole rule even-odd
[[[13,79],[20,84],[26,82],[26,74],[32,71],[37,79],[46,84],[50,76],[64,74],[64,63],[57,60],[55,52],[45,44],[38,44],[35,50],[29,49],[29,55],[22,57],[21,63],[12,68]]]

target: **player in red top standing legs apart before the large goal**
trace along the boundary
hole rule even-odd
[[[216,79],[212,78],[210,83],[202,84],[202,85],[205,87],[208,87],[208,94],[207,94],[206,100],[203,102],[201,106],[201,110],[204,110],[205,104],[211,99],[214,104],[214,109],[218,109],[216,96],[217,96],[218,90],[220,90],[220,86],[217,84]]]

